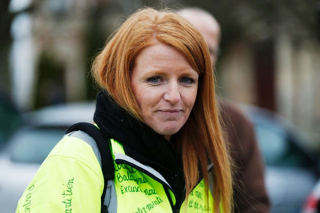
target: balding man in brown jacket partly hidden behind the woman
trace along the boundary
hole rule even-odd
[[[178,13],[202,33],[214,66],[221,36],[219,23],[212,14],[200,8],[186,8]],[[270,204],[265,189],[264,164],[253,126],[236,103],[227,99],[221,99],[219,103],[223,126],[231,144],[231,156],[238,167],[234,188],[235,212],[267,213]]]

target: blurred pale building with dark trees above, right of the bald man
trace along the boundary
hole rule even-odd
[[[220,92],[279,113],[320,142],[319,4],[231,2],[206,5],[222,27]]]

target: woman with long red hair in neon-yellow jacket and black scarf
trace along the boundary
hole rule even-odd
[[[104,187],[109,212],[231,212],[231,163],[200,32],[174,12],[141,9],[92,70],[103,88],[93,121],[110,139],[115,179],[104,186],[89,139],[69,134],[43,162],[17,212],[99,212]]]

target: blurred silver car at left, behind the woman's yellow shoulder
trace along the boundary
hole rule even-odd
[[[59,104],[23,115],[25,125],[0,149],[0,213],[14,213],[52,148],[77,122],[92,122],[93,102]]]

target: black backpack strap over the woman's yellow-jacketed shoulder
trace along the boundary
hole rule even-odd
[[[97,143],[97,146],[101,155],[101,165],[102,165],[101,167],[102,167],[102,173],[103,173],[104,182],[105,182],[105,187],[103,189],[103,193],[101,196],[101,212],[108,212],[107,206],[103,204],[106,196],[106,190],[107,190],[106,186],[107,186],[108,180],[114,179],[114,165],[113,165],[113,159],[112,159],[109,143],[103,136],[100,129],[91,123],[80,122],[80,123],[73,124],[67,129],[66,134],[73,131],[78,131],[78,130],[83,131],[88,135],[90,135],[94,139],[95,143]]]

